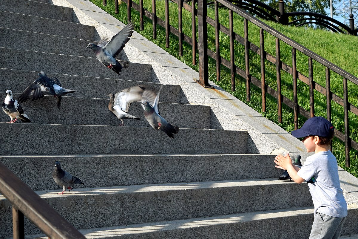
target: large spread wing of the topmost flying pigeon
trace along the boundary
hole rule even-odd
[[[105,48],[112,57],[116,57],[129,41],[129,38],[132,36],[133,29],[133,23],[128,23],[120,32],[115,34],[103,48]]]

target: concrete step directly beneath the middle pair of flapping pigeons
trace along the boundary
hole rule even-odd
[[[180,129],[171,139],[151,127],[0,123],[0,128],[3,155],[247,152],[243,130]]]

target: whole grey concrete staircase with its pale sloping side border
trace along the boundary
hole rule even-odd
[[[129,59],[129,68],[117,76],[85,47],[108,34],[97,23],[113,31],[124,24],[101,15],[87,0],[61,1],[0,5],[0,92],[10,89],[16,98],[39,71],[77,90],[63,97],[60,109],[50,96],[22,103],[31,123],[0,123],[1,162],[87,238],[308,238],[313,221],[308,187],[277,181],[282,172],[274,168],[272,155],[286,150],[306,158],[298,140],[218,86],[201,88],[193,81],[196,72],[137,33],[118,57]],[[60,2],[65,6],[57,6]],[[79,24],[85,12],[101,20]],[[151,59],[170,61],[158,67],[144,59],[137,53],[146,52],[140,40],[153,49],[146,53]],[[175,67],[168,70],[168,64]],[[171,81],[178,76],[185,79]],[[175,138],[156,132],[145,119],[118,126],[107,95],[138,84],[159,89],[160,83],[166,84],[161,115],[180,127]],[[222,106],[228,103],[229,110]],[[130,113],[143,117],[139,102]],[[1,114],[0,121],[9,117]],[[275,137],[296,144],[296,151]],[[57,195],[61,189],[51,177],[55,161],[85,185]],[[356,181],[349,179],[352,186]],[[349,205],[348,214],[342,233],[358,233],[356,204]],[[1,195],[0,218],[0,238],[10,237],[11,204]],[[25,234],[47,238],[27,219]]]

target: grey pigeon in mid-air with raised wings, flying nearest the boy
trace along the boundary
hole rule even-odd
[[[159,114],[159,93],[162,88],[163,85],[160,87],[158,94],[155,93],[153,87],[145,89],[142,94],[141,105],[144,109],[144,116],[153,129],[161,130],[166,133],[169,138],[174,138],[173,134],[179,132],[179,127],[171,125]]]

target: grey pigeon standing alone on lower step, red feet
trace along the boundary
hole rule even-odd
[[[59,192],[57,194],[63,194],[64,191],[66,191],[66,188],[68,188],[69,190],[72,190],[72,185],[74,184],[84,184],[83,182],[81,182],[81,179],[76,178],[74,176],[72,176],[71,174],[69,174],[68,172],[62,170],[61,168],[61,164],[60,162],[55,162],[55,167],[53,168],[52,171],[52,178],[55,181],[55,183],[58,186],[62,186],[63,191]]]

